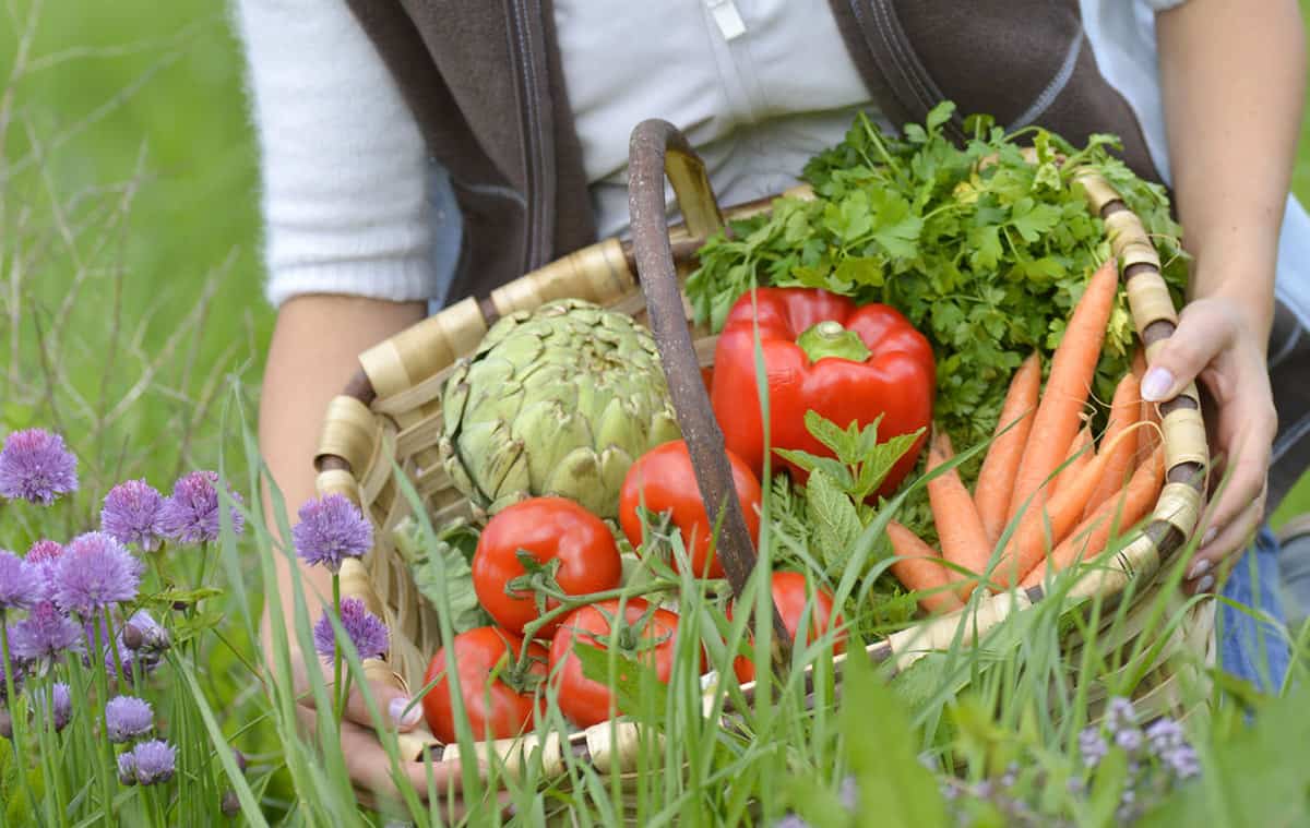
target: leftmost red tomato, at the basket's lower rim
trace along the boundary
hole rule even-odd
[[[546,649],[537,642],[528,645],[527,675],[515,669],[523,639],[495,626],[479,626],[455,637],[455,664],[458,669],[460,694],[474,739],[508,739],[532,726],[532,714],[545,702],[533,685],[546,676]],[[495,671],[496,677],[491,679]],[[445,679],[445,649],[436,651],[423,685],[441,679],[423,696],[423,713],[432,734],[447,744],[455,742],[455,711],[451,685]]]

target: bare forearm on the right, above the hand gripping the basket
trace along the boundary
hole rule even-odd
[[[1157,16],[1191,293],[1234,303],[1263,343],[1305,100],[1294,0],[1188,0]]]

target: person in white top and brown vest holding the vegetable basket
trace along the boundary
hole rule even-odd
[[[793,183],[790,173],[840,140],[855,110],[903,122],[917,104],[935,102],[924,100],[933,96],[921,94],[922,79],[916,86],[879,46],[879,38],[903,35],[913,45],[916,26],[933,25],[914,16],[934,4],[888,13],[882,0],[555,0],[544,10],[507,4],[506,18],[498,5],[411,3],[403,13],[381,0],[240,3],[263,153],[269,297],[279,308],[259,436],[288,503],[314,494],[317,435],[305,423],[318,422],[362,350],[422,318],[431,300],[485,293],[553,254],[624,229],[627,132],[638,121],[659,115],[684,128],[720,199],[734,203]],[[1005,25],[996,16],[1026,4],[945,5],[968,7],[968,14],[956,12],[939,34],[977,42],[947,48],[945,38],[920,37],[920,59],[935,80],[968,89],[979,77],[955,71],[963,55],[1005,63],[977,48],[1005,38],[973,26]],[[1026,114],[1045,123],[1043,115],[1062,111],[1074,124],[1061,128],[1070,138],[1085,127],[1120,131],[1138,172],[1172,172],[1196,258],[1192,301],[1144,394],[1166,400],[1200,377],[1214,402],[1214,445],[1233,459],[1231,474],[1187,582],[1213,590],[1264,514],[1276,428],[1265,364],[1285,208],[1300,244],[1310,244],[1303,212],[1286,202],[1305,98],[1297,4],[1087,0],[1086,35],[1072,4],[1032,5],[1060,7],[1064,16],[1049,29],[1060,38],[1070,14],[1074,30],[1068,41],[1020,45],[1023,56],[1047,48],[1053,62],[1049,86],[1032,96],[1040,106]],[[525,20],[524,8],[541,18]],[[897,20],[904,25],[884,25]],[[1098,64],[1124,97],[1078,85]],[[677,71],[664,71],[671,66]],[[1009,85],[993,80],[973,98],[952,97],[965,110],[997,111],[1007,102],[990,106],[988,96]],[[1091,96],[1086,105],[1060,109],[1083,93]],[[1140,131],[1134,122],[1123,130],[1103,123],[1133,114]],[[430,155],[453,173],[455,186],[440,168],[428,174]],[[461,240],[466,266],[456,273]],[[1306,288],[1279,287],[1279,307],[1303,325]],[[303,578],[329,593],[320,573]],[[1234,580],[1250,587],[1250,579]],[[290,588],[287,573],[282,588]],[[389,688],[375,692],[393,713],[407,701]],[[304,715],[313,721],[312,710]],[[346,718],[352,777],[362,787],[390,787],[358,694]],[[417,721],[415,707],[397,727]],[[424,765],[413,762],[406,773],[424,789]],[[457,783],[448,768],[436,774]]]

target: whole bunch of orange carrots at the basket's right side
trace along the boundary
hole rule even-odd
[[[1116,527],[1137,523],[1155,503],[1165,457],[1154,406],[1141,400],[1141,368],[1115,389],[1099,443],[1082,418],[1117,286],[1114,261],[1091,276],[1044,392],[1036,354],[1015,372],[973,493],[955,469],[929,481],[941,552],[900,524],[888,527],[899,558],[892,573],[926,611],[959,608],[984,574],[996,588],[1030,587],[1095,558]],[[950,439],[935,434],[929,472],[951,456]]]

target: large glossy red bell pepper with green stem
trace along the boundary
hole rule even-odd
[[[728,312],[714,352],[714,415],[728,451],[755,473],[764,469],[764,428],[755,373],[758,325],[769,386],[769,445],[831,457],[806,428],[806,411],[848,427],[883,415],[879,439],[926,427],[933,418],[933,348],[899,310],[858,307],[816,288],[757,288]],[[878,494],[889,494],[914,468],[926,440],[892,468]],[[806,473],[774,456],[794,480]],[[777,468],[777,466],[776,466]]]

